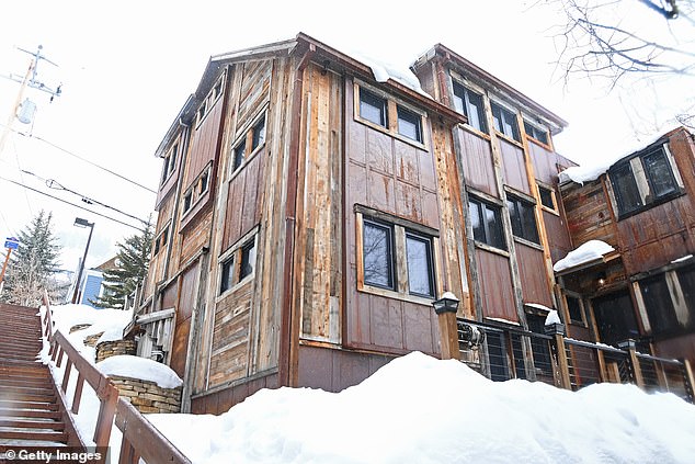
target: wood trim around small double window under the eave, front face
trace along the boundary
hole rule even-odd
[[[386,100],[386,104],[387,104],[387,110],[386,110],[386,126],[381,126],[379,124],[375,124],[369,120],[366,120],[364,117],[361,116],[360,114],[360,95],[361,95],[361,89],[365,89],[366,91],[368,91],[369,93],[374,93],[376,97],[381,98],[384,100]],[[428,137],[428,133],[429,131],[426,131],[426,127],[429,127],[428,125],[428,114],[426,112],[419,110],[410,104],[408,104],[407,102],[398,99],[397,97],[394,97],[391,94],[388,94],[381,90],[378,90],[363,81],[360,80],[355,80],[354,84],[353,84],[353,92],[354,92],[354,104],[353,104],[353,118],[355,122],[363,124],[365,126],[368,126],[375,131],[378,131],[383,134],[387,134],[394,138],[399,139],[400,142],[403,142],[408,145],[412,145],[413,147],[420,148],[422,150],[425,151],[430,151],[429,149],[429,137]],[[421,132],[421,138],[422,140],[415,140],[413,138],[410,138],[408,136],[401,135],[398,132],[398,107],[402,107],[403,110],[413,113],[417,116],[420,116],[420,132]]]

